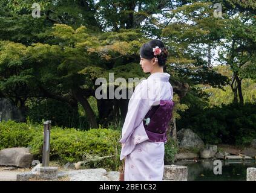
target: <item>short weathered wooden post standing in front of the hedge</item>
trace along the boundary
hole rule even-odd
[[[44,145],[43,145],[42,166],[49,166],[49,160],[50,160],[50,128],[51,128],[51,121],[45,121],[44,122]]]

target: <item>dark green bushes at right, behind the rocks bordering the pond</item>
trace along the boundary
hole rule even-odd
[[[212,108],[189,108],[177,121],[178,128],[191,128],[206,144],[249,145],[256,138],[256,104],[222,104]]]

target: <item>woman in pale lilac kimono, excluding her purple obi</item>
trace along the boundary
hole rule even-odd
[[[120,160],[125,158],[125,181],[163,179],[166,139],[149,141],[143,119],[160,100],[172,100],[170,75],[163,72],[167,56],[168,51],[160,40],[151,40],[140,48],[140,65],[143,72],[151,75],[136,86],[122,128]]]

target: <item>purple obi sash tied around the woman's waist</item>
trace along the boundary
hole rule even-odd
[[[166,142],[168,122],[172,118],[172,109],[174,101],[160,100],[160,104],[151,106],[143,119],[143,125],[148,134],[148,141]]]

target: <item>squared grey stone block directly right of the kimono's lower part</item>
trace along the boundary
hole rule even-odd
[[[188,181],[188,167],[182,165],[165,165],[163,180]]]

